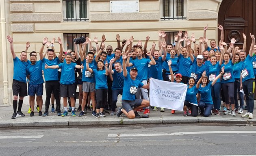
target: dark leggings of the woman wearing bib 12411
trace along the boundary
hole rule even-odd
[[[234,104],[234,82],[222,83],[221,88],[225,94],[226,104],[229,104],[229,100],[231,104]]]

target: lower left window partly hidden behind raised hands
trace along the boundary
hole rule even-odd
[[[89,37],[89,33],[75,33],[75,34],[63,34],[64,35],[64,49],[75,50],[74,48],[74,38],[78,38],[81,36]],[[88,48],[87,48],[88,49]]]

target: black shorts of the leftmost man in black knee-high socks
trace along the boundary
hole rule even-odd
[[[20,95],[19,95],[19,93],[20,93]],[[13,95],[14,96],[28,96],[27,83],[13,80]]]

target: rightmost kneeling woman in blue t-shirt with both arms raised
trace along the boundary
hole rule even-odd
[[[211,110],[213,108],[213,99],[211,95],[211,88],[217,82],[217,80],[223,75],[224,67],[221,68],[221,73],[215,77],[213,81],[209,81],[208,77],[205,76],[206,72],[204,71],[202,74],[201,86],[197,91],[197,98],[200,99],[198,103],[198,107],[201,110],[200,115],[204,115],[204,117],[208,117],[211,114]]]

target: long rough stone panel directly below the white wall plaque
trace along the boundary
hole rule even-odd
[[[91,22],[99,21],[158,21],[160,14],[158,13],[91,13]]]

